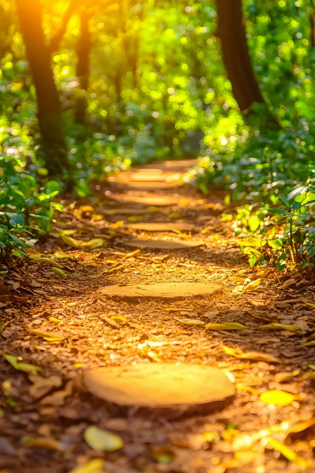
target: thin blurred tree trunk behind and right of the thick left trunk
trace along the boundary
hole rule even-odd
[[[76,101],[75,122],[85,124],[87,111],[87,90],[89,85],[90,53],[92,48],[91,33],[89,30],[89,20],[91,13],[83,11],[80,14],[81,32],[78,40],[78,65],[77,77],[79,80],[80,92]]]

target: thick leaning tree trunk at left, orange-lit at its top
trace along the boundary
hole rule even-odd
[[[50,175],[69,170],[64,138],[62,108],[45,46],[41,26],[42,8],[39,0],[16,0],[32,80],[37,96],[37,118]]]

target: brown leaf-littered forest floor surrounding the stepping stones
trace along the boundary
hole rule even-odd
[[[221,221],[223,194],[205,197],[178,186],[187,164],[170,166],[156,166],[162,177],[152,166],[129,171],[98,196],[64,202],[36,250],[58,261],[68,277],[46,260],[25,259],[1,276],[0,352],[41,368],[26,373],[28,367],[15,369],[0,357],[1,473],[315,471],[315,347],[305,345],[315,339],[314,285],[249,269],[230,223]],[[132,227],[144,223],[170,225],[168,231]],[[202,245],[136,251],[132,238]],[[110,285],[165,282],[219,289],[180,300],[176,289],[169,300],[104,294]],[[225,322],[248,328],[205,327]],[[288,327],[258,328],[269,323]],[[230,373],[236,394],[217,411],[172,419],[154,409],[126,413],[84,386],[84,373],[97,367],[161,362],[218,367]],[[274,392],[260,396],[267,391]],[[91,425],[120,436],[124,447],[95,451],[83,437]],[[103,469],[78,469],[94,458],[104,458]]]

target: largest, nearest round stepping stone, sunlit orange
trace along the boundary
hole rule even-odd
[[[189,364],[140,363],[96,368],[84,376],[86,389],[120,406],[192,413],[230,404],[235,386],[218,368]]]

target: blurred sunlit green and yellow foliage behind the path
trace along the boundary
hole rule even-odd
[[[224,71],[214,2],[32,0],[30,18],[36,3],[62,105],[69,166],[52,176],[18,21],[21,0],[1,0],[3,214],[21,213],[25,224],[30,214],[42,214],[46,229],[57,187],[66,189],[70,181],[84,197],[91,183],[98,186],[95,179],[153,160],[198,157],[187,181],[205,193],[223,186],[232,198],[256,203],[275,202],[279,191],[312,177],[312,0],[243,2],[252,67],[281,128],[268,126],[260,104],[249,116],[240,112]],[[24,199],[32,198],[28,207],[15,197],[26,192],[22,180],[32,189]],[[38,205],[42,193],[49,197]]]

